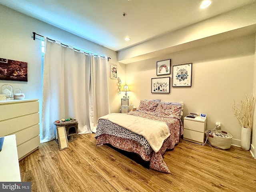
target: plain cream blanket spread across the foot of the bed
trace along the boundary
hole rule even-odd
[[[158,152],[170,136],[166,123],[122,113],[110,113],[99,119],[106,119],[146,138],[154,152]]]

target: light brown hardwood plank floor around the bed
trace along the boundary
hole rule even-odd
[[[21,180],[32,182],[32,192],[256,191],[256,160],[240,148],[203,153],[181,139],[164,154],[171,171],[166,174],[144,168],[107,145],[96,147],[94,134],[76,137],[62,151],[55,141],[42,143],[20,161]]]

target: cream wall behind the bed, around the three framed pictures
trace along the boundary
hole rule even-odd
[[[152,94],[151,78],[157,77],[156,62],[169,58],[172,66],[193,63],[192,86],[171,86],[170,94]],[[127,64],[126,82],[131,88],[131,102],[136,107],[142,99],[183,101],[184,115],[189,112],[207,114],[208,129],[220,122],[222,130],[232,134],[233,144],[240,145],[241,128],[232,105],[234,99],[240,101],[245,94],[252,94],[253,67],[254,35]]]

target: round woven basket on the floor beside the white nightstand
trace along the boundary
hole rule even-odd
[[[205,135],[207,138],[208,132],[210,132],[211,130],[206,130],[205,131]],[[214,146],[216,148],[220,148],[220,149],[229,149],[232,143],[232,135],[230,135],[227,132],[221,131],[222,134],[228,136],[228,137],[220,137],[220,136],[213,136],[211,134],[209,134],[208,136],[208,140],[207,142],[211,145]]]

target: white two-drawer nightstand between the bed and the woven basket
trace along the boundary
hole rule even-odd
[[[206,130],[206,118],[196,116],[195,118],[184,117],[184,133],[183,139],[200,143],[204,143],[204,132]]]

